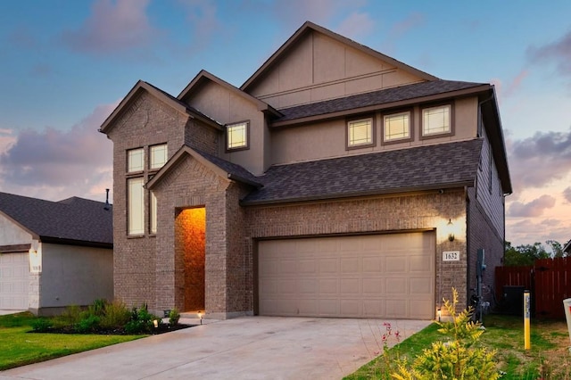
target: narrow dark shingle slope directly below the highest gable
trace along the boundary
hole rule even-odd
[[[412,85],[385,88],[370,93],[351,95],[339,99],[326,100],[279,110],[283,117],[275,122],[324,115],[331,112],[343,112],[360,107],[401,102],[418,97],[445,94],[470,87],[485,86],[484,83],[459,82],[454,80],[432,80]]]

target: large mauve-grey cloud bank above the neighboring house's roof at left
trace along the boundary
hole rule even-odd
[[[97,128],[115,105],[96,107],[67,131],[22,131],[0,150],[1,191],[54,200],[97,194],[100,199],[112,186],[112,143]]]

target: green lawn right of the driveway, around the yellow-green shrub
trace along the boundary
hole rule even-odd
[[[532,319],[531,350],[524,349],[524,324],[521,317],[489,315],[484,318],[486,330],[478,344],[496,349],[498,369],[505,372],[502,380],[571,379],[571,354],[565,321]],[[359,368],[345,379],[388,379],[387,365],[394,359],[414,359],[419,352],[437,340],[446,340],[438,326],[427,326],[418,334]]]

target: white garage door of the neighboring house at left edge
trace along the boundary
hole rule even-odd
[[[29,254],[0,255],[0,310],[28,310]]]

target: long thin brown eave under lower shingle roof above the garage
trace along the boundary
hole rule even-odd
[[[447,184],[435,184],[430,186],[414,186],[406,188],[393,188],[375,191],[364,191],[364,192],[352,192],[345,194],[327,194],[327,195],[312,195],[312,196],[300,196],[293,198],[282,198],[275,200],[261,200],[261,201],[241,201],[242,206],[261,206],[270,204],[284,204],[284,203],[296,203],[296,202],[316,202],[316,201],[331,201],[331,200],[346,200],[350,198],[360,198],[375,195],[390,195],[390,194],[409,194],[409,193],[419,193],[434,191],[440,189],[451,189],[451,188],[464,188],[465,186],[474,186],[474,179],[459,181]]]

